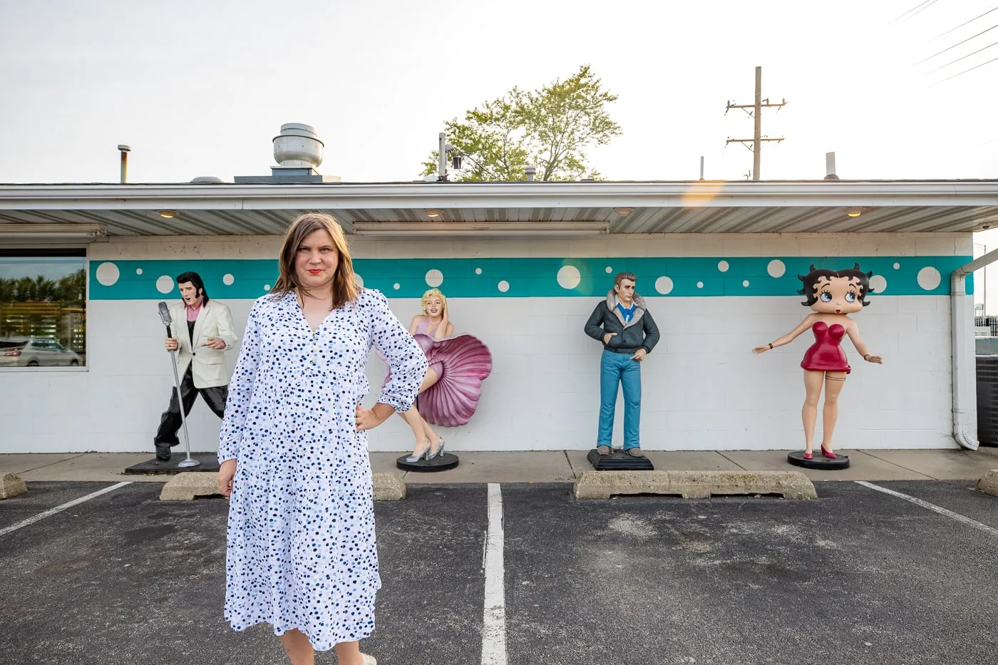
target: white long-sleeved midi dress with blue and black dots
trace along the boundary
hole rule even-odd
[[[219,445],[220,462],[238,460],[225,607],[236,630],[297,628],[323,651],[374,629],[371,469],[354,422],[371,346],[391,368],[377,400],[408,410],[426,356],[380,292],[362,290],[315,333],[293,293],[253,305]]]

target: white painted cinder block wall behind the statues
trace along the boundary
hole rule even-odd
[[[125,239],[93,245],[90,261],[273,259],[278,238]],[[834,257],[966,256],[969,235],[632,236],[598,239],[372,241],[354,238],[357,258],[521,257]],[[614,272],[628,270],[613,261]],[[180,264],[179,264],[180,266]],[[181,267],[177,273],[181,272]],[[943,276],[945,280],[947,276]],[[607,289],[612,275],[606,276]],[[368,276],[367,281],[370,281]],[[446,283],[442,286],[446,293]],[[800,358],[811,342],[753,355],[752,346],[790,331],[808,313],[800,297],[670,298],[639,282],[663,336],[643,366],[642,445],[647,449],[794,449],[803,445]],[[385,294],[407,327],[417,299]],[[226,302],[242,333],[250,300]],[[176,292],[168,299],[176,299]],[[471,422],[440,428],[460,450],[586,449],[595,444],[600,344],[582,327],[599,299],[452,298],[457,332],[493,353]],[[872,296],[855,315],[884,364],[863,362],[843,341],[853,367],[840,399],[840,448],[955,447],[951,430],[950,321],[947,296]],[[173,385],[156,301],[88,304],[84,370],[5,371],[0,375],[0,452],[150,451]],[[229,368],[238,350],[229,354]],[[383,377],[376,358],[372,389]],[[368,396],[372,403],[376,392]],[[971,407],[973,404],[970,405]],[[623,404],[618,403],[615,444]],[[199,400],[188,419],[193,448],[214,450],[219,419]],[[818,434],[820,436],[820,414]],[[412,435],[394,417],[371,433],[372,450],[408,450]]]

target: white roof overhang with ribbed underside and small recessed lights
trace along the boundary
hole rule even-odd
[[[396,237],[971,233],[998,226],[998,180],[0,185],[0,237],[279,235],[304,211]]]

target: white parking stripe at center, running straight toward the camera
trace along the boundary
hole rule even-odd
[[[489,483],[489,530],[485,539],[485,616],[482,665],[506,665],[506,594],[503,568],[502,491]]]

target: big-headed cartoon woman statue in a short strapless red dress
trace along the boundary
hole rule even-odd
[[[804,424],[804,459],[813,457],[814,422],[817,420],[817,402],[824,387],[824,408],[822,411],[821,454],[835,458],[831,451],[831,433],[838,419],[838,395],[845,384],[845,375],[852,371],[845,350],[840,343],[842,337],[849,336],[852,345],[867,362],[880,364],[883,359],[869,352],[859,327],[849,319],[850,314],[861,312],[869,305],[866,296],[870,294],[869,279],[872,273],[863,273],[859,264],[843,271],[828,271],[810,267],[810,272],[797,276],[803,283],[799,294],[806,298],[801,305],[809,307],[813,314],[804,317],[800,324],[775,341],[764,346],[756,346],[752,353],[762,353],[793,341],[797,335],[810,329],[814,333],[814,343],[804,352],[800,366],[804,370],[804,397],[801,418]]]

